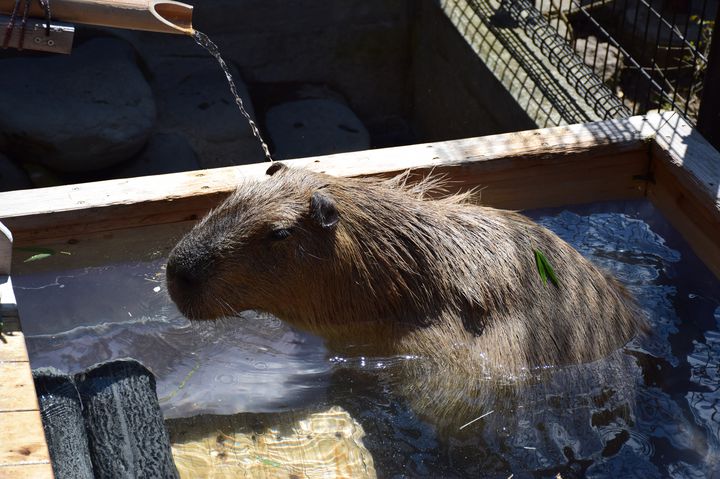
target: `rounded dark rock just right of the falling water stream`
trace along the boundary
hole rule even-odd
[[[277,159],[370,148],[370,135],[360,119],[333,99],[303,99],[274,106],[265,123]]]

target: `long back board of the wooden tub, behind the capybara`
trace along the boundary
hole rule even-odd
[[[601,197],[634,194],[628,179],[608,185],[610,175],[635,174],[639,163],[628,168],[615,161],[618,155],[642,162],[647,140],[653,132],[638,129],[629,119],[570,125],[482,138],[368,150],[289,161],[339,176],[392,175],[407,169],[447,171],[465,186],[481,186],[490,195],[491,181],[512,178],[524,169],[534,181],[515,188],[498,188],[497,206],[540,206],[532,202],[552,192],[552,204],[588,201]],[[638,154],[639,157],[634,155]],[[190,221],[224,198],[244,178],[263,178],[267,163],[170,175],[66,185],[31,191],[0,193],[0,219],[19,245],[71,238],[150,224]],[[592,177],[554,174],[566,168],[575,173],[591,169]],[[593,170],[594,169],[594,170]],[[504,175],[504,176],[503,176]],[[582,180],[582,188],[568,181]],[[500,180],[498,180],[500,181]],[[550,182],[543,188],[543,182]],[[562,186],[562,188],[560,188]],[[563,191],[568,187],[568,191]],[[550,190],[549,188],[553,188]],[[502,198],[512,201],[503,202]],[[624,197],[624,196],[622,196]],[[495,196],[490,196],[495,198]]]

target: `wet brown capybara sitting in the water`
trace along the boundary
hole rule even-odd
[[[256,309],[345,354],[509,372],[593,361],[644,327],[625,289],[554,233],[470,193],[433,199],[437,179],[279,163],[268,175],[240,184],[171,252],[168,290],[188,318]]]

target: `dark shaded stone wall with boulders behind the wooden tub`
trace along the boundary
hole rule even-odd
[[[278,159],[535,127],[442,6],[204,0],[193,23]],[[193,39],[77,32],[70,56],[0,52],[0,190],[265,160]]]

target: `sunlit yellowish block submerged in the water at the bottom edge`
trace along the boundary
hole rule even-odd
[[[168,429],[181,478],[377,477],[365,431],[338,406],[304,417],[195,416]]]

